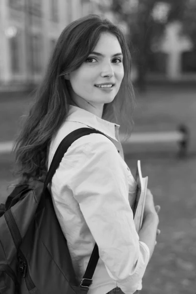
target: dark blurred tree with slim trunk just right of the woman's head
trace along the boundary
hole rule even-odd
[[[110,0],[107,7],[119,21],[128,25],[129,49],[138,69],[137,85],[140,90],[145,90],[151,45],[155,39],[162,36],[168,22],[182,21],[185,31],[195,38],[196,43],[196,14],[192,9],[194,6],[196,11],[196,0],[134,0],[135,5],[131,5],[132,1]],[[154,11],[157,5],[163,2],[169,5],[169,9],[162,19],[155,18]],[[194,3],[192,7],[191,2]],[[106,7],[103,9],[105,11]]]

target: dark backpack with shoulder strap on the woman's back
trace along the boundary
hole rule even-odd
[[[54,154],[45,182],[16,186],[0,205],[0,294],[88,292],[98,264],[98,245],[78,285],[47,187],[71,144],[92,133],[101,132],[86,127],[67,135]]]

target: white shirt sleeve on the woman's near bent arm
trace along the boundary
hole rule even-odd
[[[138,290],[149,249],[135,229],[123,159],[108,138],[91,134],[75,141],[64,160],[75,167],[69,187],[108,274],[125,294]]]

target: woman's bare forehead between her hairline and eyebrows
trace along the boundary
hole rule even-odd
[[[111,33],[101,33],[98,43],[94,51],[106,54],[107,52],[111,55],[122,52],[121,45],[117,37]]]

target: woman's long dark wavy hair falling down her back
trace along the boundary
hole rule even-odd
[[[15,174],[22,181],[41,178],[47,171],[48,147],[51,138],[66,120],[69,106],[69,81],[65,73],[78,69],[96,47],[100,34],[114,34],[123,52],[124,77],[120,90],[103,108],[103,119],[123,125],[130,134],[134,92],[130,80],[130,52],[118,26],[98,15],[88,15],[68,25],[57,40],[45,77],[14,146]]]

